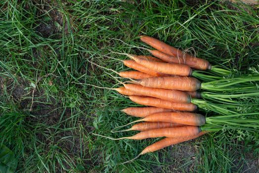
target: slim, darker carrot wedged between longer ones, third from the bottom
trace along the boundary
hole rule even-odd
[[[138,130],[138,131],[146,131],[152,129],[161,129],[161,128],[176,128],[176,127],[184,127],[185,125],[177,124],[177,123],[168,123],[168,122],[144,122],[138,123],[133,125],[130,129],[127,130],[120,130],[114,132],[122,132],[122,131],[131,131],[131,130]]]

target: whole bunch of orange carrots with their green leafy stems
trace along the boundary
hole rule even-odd
[[[229,70],[212,66],[205,59],[183,53],[152,37],[141,36],[140,40],[155,48],[144,48],[155,57],[120,53],[130,58],[123,60],[124,65],[135,71],[116,72],[129,81],[127,84],[120,82],[123,87],[112,88],[129,96],[131,101],[147,106],[123,109],[124,113],[141,119],[116,128],[138,123],[127,130],[112,131],[140,132],[129,137],[107,138],[140,140],[165,137],[144,148],[139,157],[210,131],[238,129],[258,132],[259,108],[247,109],[258,104],[251,99],[259,96],[258,74],[231,76]],[[197,108],[214,112],[216,116],[205,117],[197,113]]]

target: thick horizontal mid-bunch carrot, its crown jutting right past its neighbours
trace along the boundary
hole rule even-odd
[[[135,81],[134,83],[144,87],[176,89],[182,91],[196,91],[201,88],[201,82],[196,78],[179,76],[144,78]]]

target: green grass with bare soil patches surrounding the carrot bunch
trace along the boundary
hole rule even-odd
[[[259,8],[219,1],[0,0],[0,138],[28,172],[253,172],[258,149],[220,132],[127,165],[152,140],[111,141],[129,123],[119,110],[135,106],[112,90],[122,71],[116,52],[145,53],[147,34],[248,73],[259,63]],[[107,74],[108,73],[108,74]],[[133,134],[133,132],[128,133]]]

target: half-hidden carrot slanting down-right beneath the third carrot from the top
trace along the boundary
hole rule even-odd
[[[162,74],[162,73],[156,72],[154,70],[148,69],[148,68],[136,63],[134,60],[123,60],[123,63],[124,63],[124,65],[126,65],[129,68],[135,69],[137,71],[146,73],[151,76],[169,76],[169,75]]]

